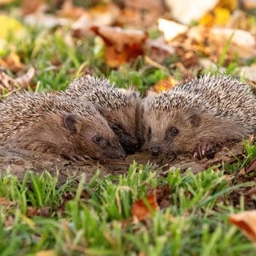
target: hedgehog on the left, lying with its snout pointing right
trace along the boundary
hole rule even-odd
[[[117,135],[91,102],[23,91],[1,102],[0,111],[3,145],[74,161],[126,158]]]

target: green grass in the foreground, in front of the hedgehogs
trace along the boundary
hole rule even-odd
[[[96,176],[98,174],[95,174]],[[243,209],[229,202],[230,186],[223,172],[206,170],[194,175],[170,172],[158,178],[158,170],[134,163],[125,175],[107,176],[93,183],[82,175],[78,186],[56,188],[50,174],[28,172],[23,182],[8,174],[1,178],[1,197],[13,205],[0,210],[1,255],[29,255],[51,249],[58,255],[254,255],[253,245],[228,222]],[[31,183],[26,189],[25,182]],[[170,205],[145,222],[131,220],[131,206],[149,188],[170,187]],[[59,208],[68,191],[74,198]],[[83,198],[82,192],[90,197]],[[31,196],[33,194],[33,196]],[[49,195],[51,195],[49,197]],[[42,199],[43,198],[43,199]],[[221,198],[221,200],[220,200]],[[47,217],[26,217],[26,209],[49,206]]]

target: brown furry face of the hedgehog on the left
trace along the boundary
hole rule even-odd
[[[68,114],[64,123],[70,131],[70,140],[77,149],[77,154],[97,159],[126,158],[126,152],[118,142],[118,137],[100,115],[90,119]]]

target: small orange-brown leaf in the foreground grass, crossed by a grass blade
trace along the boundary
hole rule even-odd
[[[159,210],[156,190],[148,194],[146,198],[138,199],[131,207],[133,218],[137,218],[139,221],[150,217],[152,212],[156,210]]]

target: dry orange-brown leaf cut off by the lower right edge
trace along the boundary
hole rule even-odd
[[[256,210],[244,211],[240,214],[231,214],[230,222],[249,238],[256,242]]]

